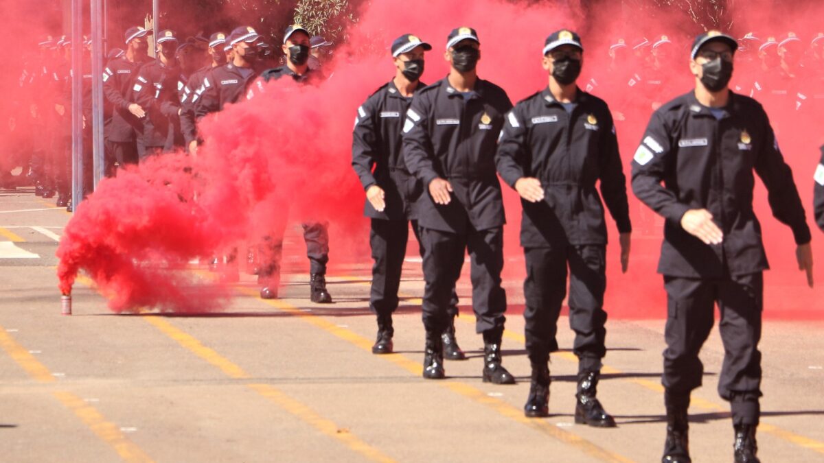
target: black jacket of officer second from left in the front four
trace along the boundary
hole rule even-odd
[[[403,128],[404,158],[423,182],[417,203],[422,227],[465,233],[489,230],[506,222],[495,149],[503,118],[513,107],[501,87],[481,79],[461,95],[447,78],[415,93]],[[428,185],[436,178],[452,184],[452,201],[436,204]]]

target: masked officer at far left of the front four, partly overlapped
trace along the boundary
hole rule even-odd
[[[364,215],[371,219],[369,244],[375,260],[369,297],[369,306],[377,315],[377,340],[372,353],[392,352],[392,313],[398,307],[410,221],[420,243],[414,203],[423,193],[423,186],[406,168],[400,128],[414,92],[426,87],[420,76],[424,72],[424,52],[431,49],[432,45],[411,34],[392,42],[395,77],[369,96],[355,117],[352,166],[366,192]],[[420,246],[421,255],[424,252]],[[444,354],[447,358],[466,359],[455,340],[453,307],[452,323],[443,334]]]

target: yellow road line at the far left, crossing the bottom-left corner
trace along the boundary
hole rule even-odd
[[[35,379],[35,381],[42,383],[53,383],[57,381],[54,375],[49,372],[49,368],[46,368],[45,365],[31,355],[26,348],[17,343],[2,326],[0,326],[0,346],[2,346],[9,357],[26,370],[29,376]],[[77,415],[77,418],[81,419],[82,422],[91,429],[92,433],[95,433],[103,442],[113,447],[124,461],[152,461],[140,447],[129,441],[114,423],[106,421],[105,417],[99,411],[91,405],[88,405],[77,397],[77,395],[73,395],[67,391],[55,391],[54,397],[59,400],[63,406],[72,410],[73,413]]]

